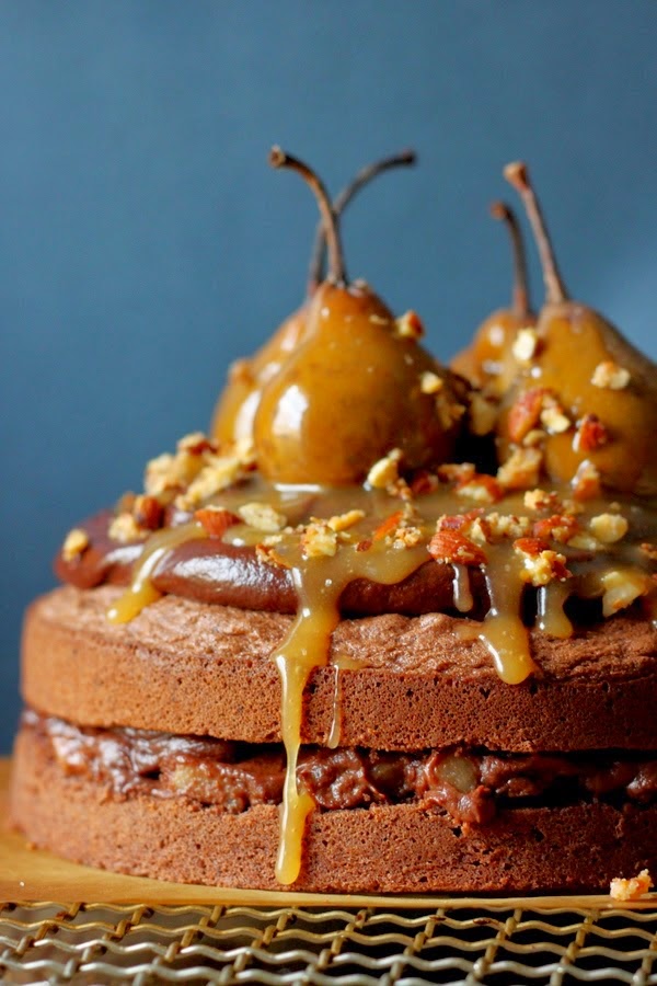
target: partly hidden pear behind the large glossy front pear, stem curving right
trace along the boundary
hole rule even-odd
[[[377,175],[393,168],[414,164],[415,160],[414,151],[403,150],[367,164],[335,199],[335,215],[341,216],[354,196]],[[210,434],[221,445],[234,444],[242,449],[253,445],[253,422],[263,388],[280,370],[306,331],[309,300],[322,279],[325,246],[324,226],[320,221],[309,267],[306,301],[251,358],[238,359],[231,366],[210,426]]]

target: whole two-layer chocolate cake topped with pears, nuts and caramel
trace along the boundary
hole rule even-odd
[[[273,163],[313,186],[330,274],[210,435],[65,539],[25,620],[15,825],[227,886],[595,891],[655,868],[654,364],[567,299],[521,165],[548,302],[531,314],[519,264],[512,311],[449,370],[415,313],[347,283],[319,179]]]

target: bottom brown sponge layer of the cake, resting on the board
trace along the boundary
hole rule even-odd
[[[122,798],[67,775],[30,731],[16,741],[13,823],[78,862],[182,883],[279,888],[278,810],[241,814],[152,794]],[[657,806],[602,803],[500,811],[465,834],[418,804],[313,813],[293,888],[453,893],[603,891],[657,868]]]

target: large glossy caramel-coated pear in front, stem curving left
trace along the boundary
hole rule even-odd
[[[299,346],[263,388],[254,422],[262,473],[279,483],[345,485],[361,482],[392,449],[410,469],[445,461],[463,412],[449,370],[367,285],[347,284],[335,213],[315,173],[278,148],[269,160],[313,190],[330,273],[310,300]]]

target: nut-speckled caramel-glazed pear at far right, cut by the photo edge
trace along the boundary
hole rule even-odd
[[[533,339],[514,347],[516,376],[498,425],[502,458],[522,440],[526,412],[539,412],[544,468],[553,481],[572,481],[588,460],[609,489],[653,494],[657,367],[601,314],[568,298],[526,165],[507,165],[505,177],[527,209],[546,300]]]

